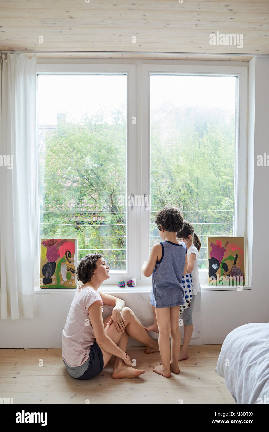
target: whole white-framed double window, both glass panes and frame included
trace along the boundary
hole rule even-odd
[[[38,260],[40,237],[77,237],[78,259],[104,254],[106,283],[150,284],[170,204],[200,237],[206,282],[207,237],[245,232],[247,68],[133,63],[38,64]]]

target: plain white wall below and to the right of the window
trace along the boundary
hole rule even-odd
[[[249,135],[247,184],[247,254],[250,260],[251,290],[203,291],[201,295],[201,334],[191,343],[222,343],[226,335],[249,322],[269,321],[267,276],[269,245],[269,166],[258,167],[256,156],[269,155],[269,58],[249,62]],[[127,293],[122,297],[129,304]],[[149,302],[150,294],[137,294]],[[0,348],[60,348],[61,335],[73,293],[37,293],[35,318],[1,320]],[[133,311],[139,315],[139,301]],[[150,310],[142,324],[152,319]]]

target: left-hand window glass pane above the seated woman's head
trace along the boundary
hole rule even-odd
[[[126,270],[126,74],[38,75],[41,238]]]

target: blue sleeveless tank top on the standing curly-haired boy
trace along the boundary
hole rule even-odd
[[[171,308],[184,305],[182,276],[187,254],[187,246],[165,240],[161,259],[156,262],[152,273],[150,304],[155,308]]]

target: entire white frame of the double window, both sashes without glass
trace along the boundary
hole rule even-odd
[[[150,124],[149,124],[149,77],[150,73],[175,73],[187,75],[220,75],[237,77],[237,107],[234,178],[234,236],[244,237],[246,257],[246,208],[247,208],[247,79],[248,66],[227,65],[227,62],[175,60],[120,60],[105,63],[105,60],[74,61],[42,60],[37,64],[37,73],[127,73],[127,195],[143,197],[150,195]],[[98,62],[98,64],[97,64]],[[133,122],[136,118],[136,123]],[[38,116],[37,116],[38,119]],[[37,127],[38,129],[38,127]],[[37,131],[38,132],[38,131]],[[38,135],[37,135],[38,137]],[[38,140],[37,140],[38,145]],[[38,166],[36,167],[39,185]],[[143,204],[143,202],[142,202]],[[127,272],[111,273],[104,285],[117,284],[118,280],[136,277],[137,284],[151,284],[151,277],[142,275],[141,265],[149,259],[150,213],[145,207],[127,206]],[[36,194],[36,238],[35,238],[35,285],[40,280],[40,219],[39,187]],[[141,234],[139,234],[141,233]],[[129,241],[128,241],[129,240]],[[208,283],[208,271],[199,270],[200,282]],[[245,284],[248,284],[248,262],[245,259]],[[220,288],[218,288],[219,290]],[[231,290],[222,287],[221,290]]]

